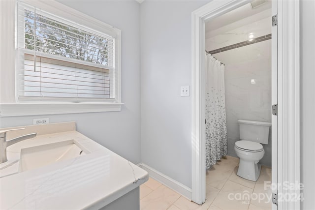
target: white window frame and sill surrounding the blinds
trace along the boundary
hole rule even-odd
[[[91,29],[91,31],[99,31],[115,38],[115,75],[113,88],[115,89],[115,98],[104,99],[103,101],[83,101],[83,102],[68,102],[68,101],[25,101],[19,100],[18,98],[18,46],[17,46],[17,2],[14,2],[14,16],[10,15],[9,12],[3,12],[1,18],[8,18],[10,22],[15,23],[12,26],[14,34],[6,33],[1,36],[1,43],[4,43],[10,35],[15,37],[14,50],[1,49],[1,54],[6,52],[11,54],[14,59],[13,63],[8,62],[4,64],[6,69],[12,69],[14,71],[14,83],[12,84],[12,72],[4,72],[1,69],[1,89],[9,89],[8,94],[1,95],[0,101],[0,116],[30,116],[30,115],[49,115],[49,114],[67,114],[67,113],[88,113],[88,112],[112,112],[121,111],[121,106],[123,105],[121,101],[121,30],[103,23],[93,17],[90,17],[82,12],[72,9],[57,1],[41,1],[41,0],[21,0],[30,5],[41,8],[44,11],[53,13],[60,16],[67,21],[72,21],[77,25],[82,25],[84,28]],[[1,6],[2,11],[12,11],[12,3],[3,3]],[[13,20],[11,20],[13,19]],[[15,19],[15,20],[14,20]],[[5,47],[3,47],[5,48]],[[2,57],[2,56],[1,56]],[[3,58],[1,58],[3,60]],[[1,66],[2,68],[2,66]],[[2,76],[3,75],[3,76]],[[10,78],[10,81],[5,81],[5,79]],[[14,90],[14,96],[12,94],[12,89]],[[14,98],[14,99],[13,99]]]

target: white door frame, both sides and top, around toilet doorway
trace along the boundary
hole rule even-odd
[[[205,21],[249,2],[250,0],[213,0],[192,12],[191,200],[200,205],[206,198]],[[278,10],[278,71],[272,67],[272,72],[277,71],[278,82],[278,141],[277,147],[273,147],[272,154],[277,157],[278,170],[272,170],[272,178],[278,177],[278,180],[273,180],[278,183],[278,189],[276,189],[278,195],[283,196],[286,193],[300,195],[300,189],[287,189],[284,186],[284,183],[300,183],[299,1],[277,0],[276,6]],[[272,92],[277,91],[274,89],[273,87]],[[274,142],[274,139],[272,141]],[[280,210],[300,209],[299,200],[283,200],[278,203]],[[277,206],[272,206],[273,209],[277,209]]]

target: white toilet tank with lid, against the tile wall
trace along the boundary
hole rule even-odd
[[[240,140],[268,144],[271,122],[237,120],[240,124]]]

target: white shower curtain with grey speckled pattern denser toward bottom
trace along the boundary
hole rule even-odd
[[[224,65],[206,55],[206,168],[227,154]]]

